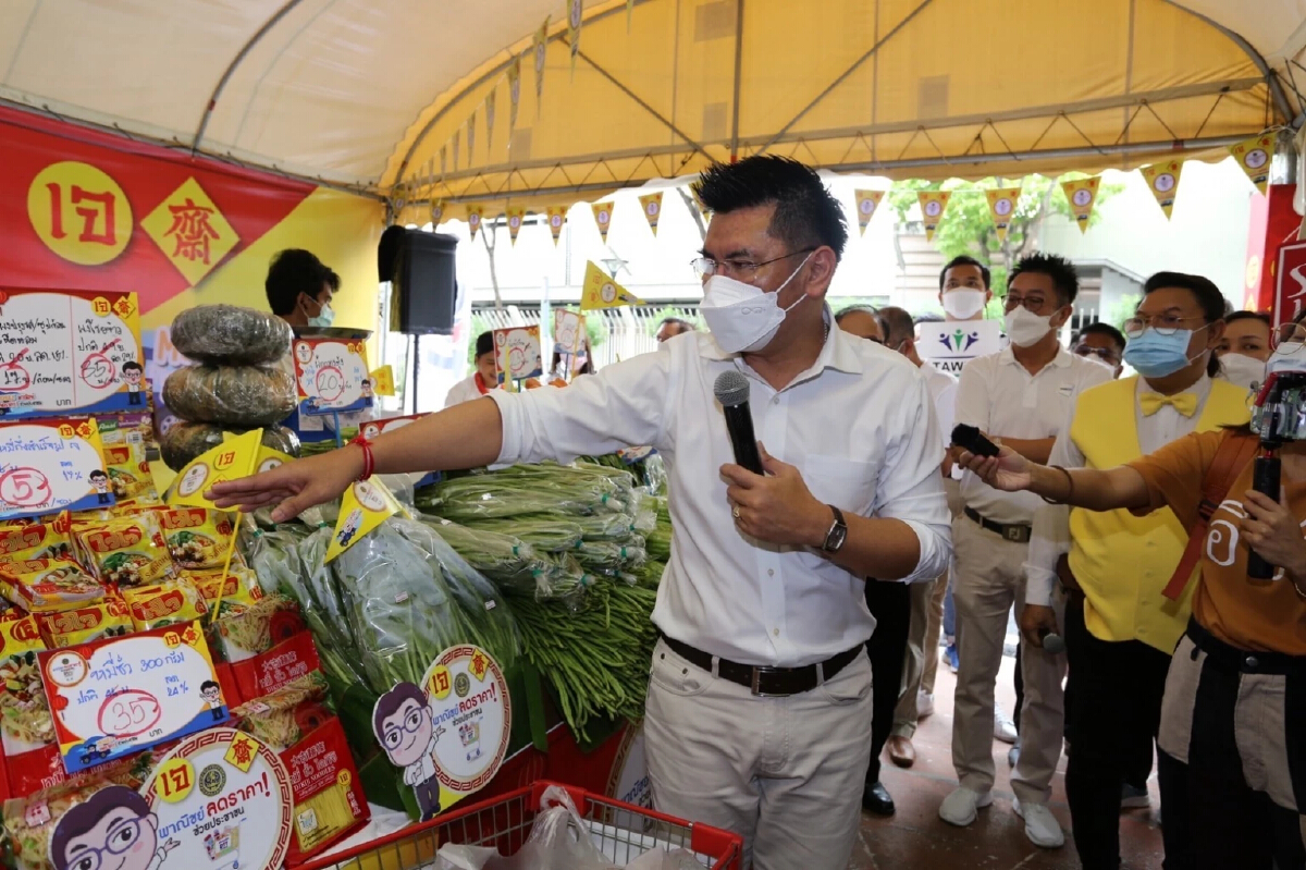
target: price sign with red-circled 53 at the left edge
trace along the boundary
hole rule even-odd
[[[0,520],[111,504],[93,418],[0,425]]]

